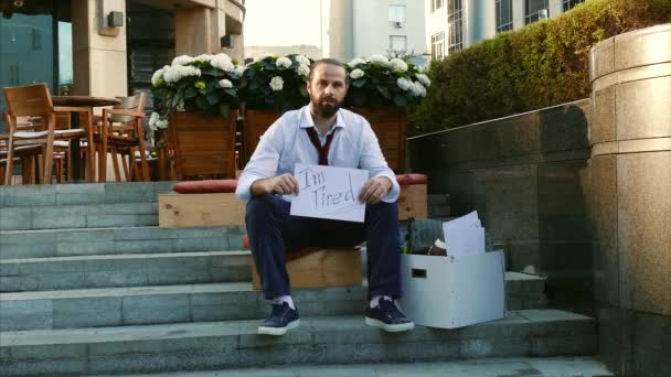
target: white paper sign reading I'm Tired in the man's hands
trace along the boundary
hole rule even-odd
[[[294,176],[300,191],[291,200],[291,215],[363,223],[365,204],[358,197],[368,170],[297,163]]]

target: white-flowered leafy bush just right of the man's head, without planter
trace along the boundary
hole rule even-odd
[[[412,107],[426,96],[430,79],[403,58],[372,55],[345,64],[350,88],[348,106]]]

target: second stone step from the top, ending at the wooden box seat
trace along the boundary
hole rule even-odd
[[[158,226],[158,203],[21,206],[0,208],[0,230]]]

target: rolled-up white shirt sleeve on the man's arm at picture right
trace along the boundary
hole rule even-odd
[[[359,169],[365,169],[373,176],[386,176],[392,181],[392,190],[382,198],[383,202],[394,203],[398,200],[401,187],[396,181],[396,174],[390,169],[380,150],[380,142],[371,125],[364,120],[361,143],[361,159],[359,160]]]

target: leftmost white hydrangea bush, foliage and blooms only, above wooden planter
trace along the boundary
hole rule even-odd
[[[157,112],[149,118],[149,127],[155,131],[166,129],[170,110],[207,110],[227,116],[239,106],[243,71],[226,54],[175,57],[151,77]]]

